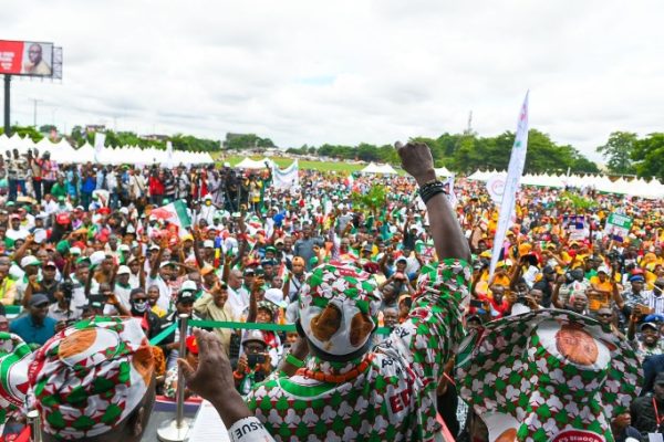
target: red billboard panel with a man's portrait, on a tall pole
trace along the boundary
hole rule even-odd
[[[53,43],[0,40],[0,74],[53,76]]]

